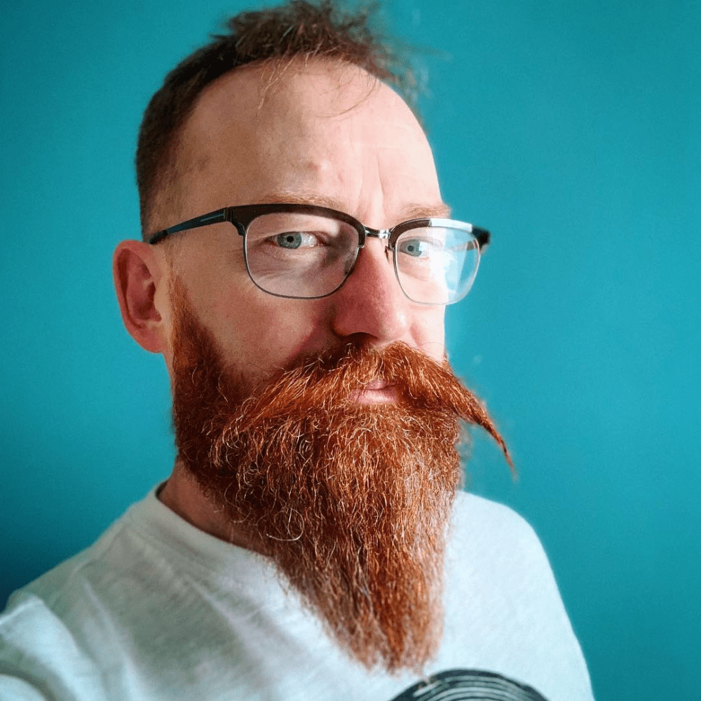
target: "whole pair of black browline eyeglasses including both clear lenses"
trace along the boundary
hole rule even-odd
[[[328,207],[273,203],[224,207],[158,231],[149,243],[219,222],[230,222],[243,237],[254,285],[292,299],[320,299],[339,290],[371,237],[387,241],[397,280],[411,301],[454,304],[470,291],[490,238],[486,229],[453,219],[411,219],[391,229],[370,229]]]

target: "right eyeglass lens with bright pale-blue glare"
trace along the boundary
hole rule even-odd
[[[395,269],[404,294],[421,304],[452,304],[467,294],[479,267],[479,243],[467,227],[427,226],[404,231]]]

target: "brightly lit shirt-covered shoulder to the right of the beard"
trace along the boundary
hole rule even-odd
[[[456,498],[451,525],[447,639],[472,652],[475,669],[527,681],[548,699],[590,701],[582,651],[531,526],[471,494]]]

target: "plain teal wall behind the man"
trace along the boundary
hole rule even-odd
[[[147,100],[238,0],[8,3],[0,22],[0,605],[164,479],[168,383],[118,318]],[[701,660],[701,4],[391,0],[456,216],[494,245],[448,313],[470,486],[535,526],[599,701]]]

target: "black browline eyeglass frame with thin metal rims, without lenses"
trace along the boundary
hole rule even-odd
[[[316,297],[297,297],[294,294],[279,294],[277,292],[269,292],[264,287],[261,287],[255,280],[251,273],[250,267],[248,266],[248,255],[246,247],[246,232],[251,222],[258,217],[263,215],[278,214],[280,212],[290,212],[291,214],[306,214],[306,215],[318,215],[320,217],[326,217],[327,219],[337,219],[341,222],[349,224],[350,226],[358,232],[358,247],[355,249],[355,255],[353,256],[353,261],[348,267],[348,273],[343,278],[341,283],[334,288],[331,292],[326,294],[319,294]],[[491,233],[486,229],[482,229],[479,226],[474,226],[473,224],[468,224],[468,222],[459,222],[456,219],[444,219],[442,217],[421,217],[418,219],[408,219],[406,222],[401,222],[396,224],[390,229],[372,229],[369,226],[365,226],[355,217],[347,215],[345,212],[339,212],[339,210],[331,209],[330,207],[320,207],[318,205],[303,205],[299,203],[264,203],[259,205],[237,205],[234,207],[222,207],[220,210],[215,210],[214,212],[208,212],[206,215],[200,215],[199,217],[194,217],[193,219],[187,219],[186,222],[180,222],[175,224],[175,226],[169,226],[168,229],[161,229],[161,231],[156,231],[152,234],[147,243],[159,243],[167,236],[171,236],[174,233],[179,233],[181,231],[189,231],[189,229],[198,229],[200,226],[209,226],[210,224],[219,224],[220,222],[229,222],[236,227],[239,236],[243,238],[243,259],[246,266],[246,272],[248,277],[251,279],[252,283],[262,290],[266,294],[272,294],[274,297],[285,297],[287,299],[322,299],[323,297],[329,297],[329,295],[338,292],[341,287],[346,283],[346,280],[351,277],[353,273],[353,268],[355,268],[355,261],[358,259],[358,252],[361,248],[365,247],[366,238],[380,238],[387,241],[387,247],[392,251],[394,259],[395,275],[397,277],[397,282],[400,285],[402,292],[404,292],[404,287],[402,287],[402,282],[399,277],[399,271],[397,270],[397,255],[396,255],[396,244],[399,237],[404,233],[404,231],[409,231],[409,229],[420,229],[422,227],[433,227],[433,226],[446,226],[451,229],[463,229],[471,233],[472,236],[477,240],[477,245],[479,247],[479,252],[482,254],[486,247],[489,245],[491,240]],[[404,292],[404,294],[409,297],[409,295]],[[411,299],[411,297],[409,297]],[[414,300],[412,300],[414,301]],[[459,300],[456,300],[459,301]],[[416,304],[432,304],[430,302],[417,302]]]

